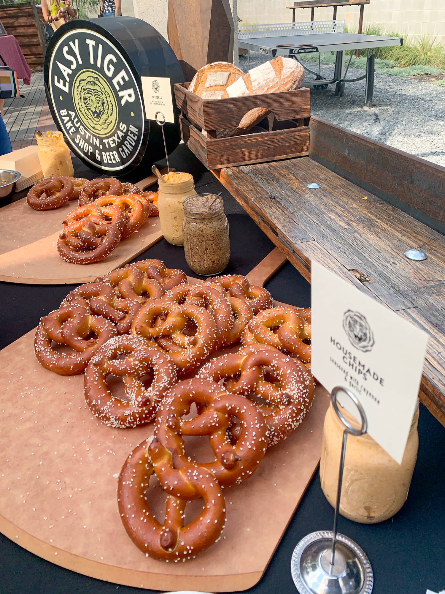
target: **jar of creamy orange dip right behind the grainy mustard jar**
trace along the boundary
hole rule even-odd
[[[168,174],[166,183],[159,181],[158,210],[164,238],[173,245],[183,245],[182,221],[184,198],[195,192],[195,184],[190,173]]]

